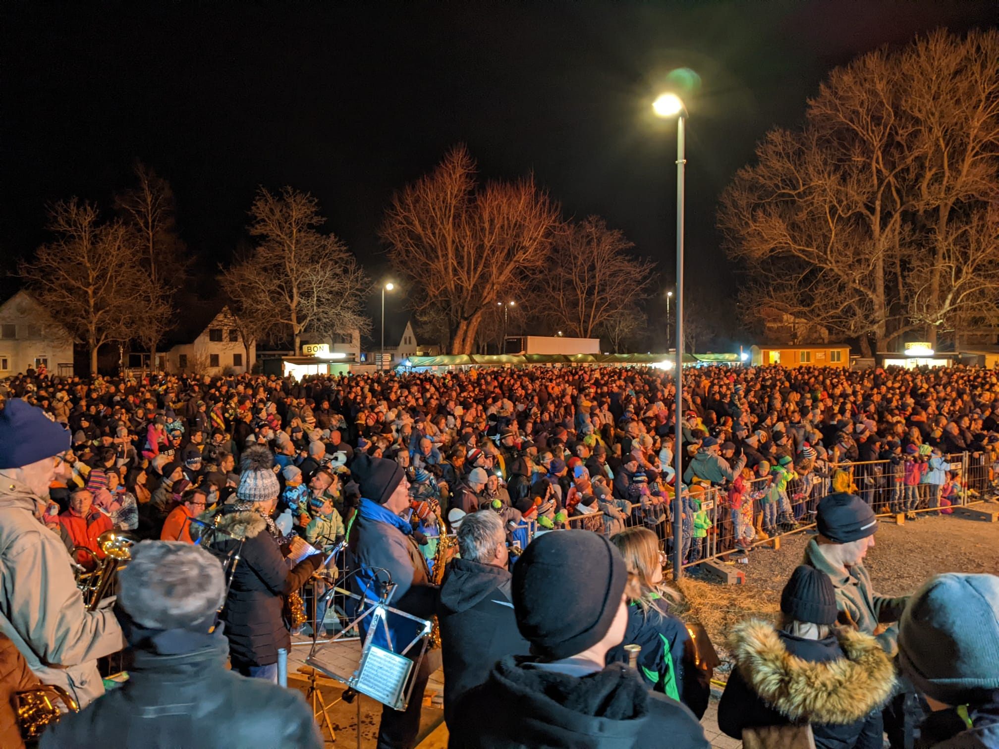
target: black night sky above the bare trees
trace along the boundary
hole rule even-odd
[[[83,5],[0,10],[5,257],[45,240],[48,201],[110,209],[140,158],[172,183],[206,273],[245,237],[257,186],[289,184],[381,275],[393,191],[465,142],[485,177],[532,171],[567,216],[603,216],[668,281],[675,126],[648,106],[685,67],[701,81],[685,96],[687,273],[701,293],[736,283],[719,192],[768,128],[800,121],[831,67],[997,20],[995,2],[943,0]]]

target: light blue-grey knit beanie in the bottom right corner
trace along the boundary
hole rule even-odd
[[[999,577],[930,578],[902,612],[898,665],[918,691],[947,705],[999,689]]]

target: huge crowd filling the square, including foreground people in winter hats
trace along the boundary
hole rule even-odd
[[[383,712],[380,747],[414,745],[442,659],[454,746],[657,746],[664,731],[670,745],[703,746],[714,654],[671,613],[667,554],[743,553],[814,523],[781,621],[733,632],[722,730],[771,745],[767,731],[807,727],[840,747],[879,747],[884,730],[904,746],[921,721],[932,743],[961,733],[994,746],[999,580],[944,575],[882,598],[863,558],[877,514],[947,512],[989,489],[997,394],[999,377],[974,368],[691,369],[676,476],[674,385],[654,369],[303,381],[29,372],[0,383],[0,625],[15,646],[4,652],[83,705],[103,691],[97,658],[126,644],[147,656],[114,699],[64,719],[43,745],[104,745],[102,726],[127,725],[139,746],[147,715],[177,736],[163,746],[250,745],[236,734],[319,746],[304,704],[258,692],[270,707],[252,713],[236,704],[238,678],[257,677],[250,690],[278,681],[292,595],[350,571],[358,596],[379,597],[388,577],[393,605],[440,624],[409,707]],[[86,610],[76,582],[101,568],[109,530],[143,540],[116,605]],[[343,554],[326,553],[342,542]],[[239,564],[224,570],[237,545]],[[985,634],[948,618],[965,605],[979,607]],[[640,645],[634,668],[629,644]],[[939,652],[956,656],[942,664]],[[212,670],[227,660],[225,676]],[[164,686],[171,668],[178,683],[214,679],[218,698],[180,710]],[[129,700],[149,707],[129,713]],[[282,728],[265,725],[281,706]],[[960,725],[945,722],[959,706]],[[222,738],[219,720],[234,715],[244,725]],[[209,718],[214,733],[200,732]]]

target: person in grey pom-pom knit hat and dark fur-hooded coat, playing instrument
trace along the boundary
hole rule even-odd
[[[285,597],[302,587],[324,557],[306,556],[289,569],[285,557],[294,553],[303,541],[297,539],[296,544],[293,538],[286,553],[284,538],[271,518],[281,492],[271,451],[263,445],[253,445],[243,452],[240,463],[236,501],[224,505],[218,523],[196,524],[191,535],[198,541],[208,534],[212,545],[224,553],[243,540],[240,561],[222,612],[230,661],[244,676],[277,683],[278,649],[291,647],[291,636],[282,615]],[[218,534],[212,534],[210,528],[218,529]]]

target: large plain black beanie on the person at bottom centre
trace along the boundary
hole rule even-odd
[[[610,629],[626,582],[624,559],[602,535],[545,533],[513,566],[516,627],[537,655],[559,660],[581,653]]]

